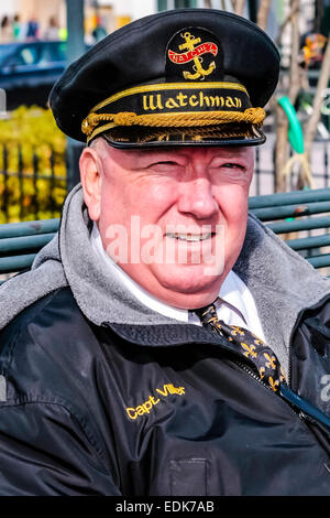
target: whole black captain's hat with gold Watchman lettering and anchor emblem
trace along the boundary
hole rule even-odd
[[[118,148],[252,145],[279,54],[257,25],[213,9],[140,19],[74,62],[50,105],[67,136]]]

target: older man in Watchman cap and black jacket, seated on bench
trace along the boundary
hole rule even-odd
[[[0,291],[1,495],[330,494],[329,281],[248,219],[278,65],[253,23],[178,10],[55,85],[88,145]]]

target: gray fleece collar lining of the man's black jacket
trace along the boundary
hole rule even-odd
[[[145,307],[109,276],[90,246],[90,220],[77,185],[67,196],[59,233],[36,256],[32,270],[0,288],[0,328],[24,307],[69,285],[88,320],[97,325],[182,323]],[[329,294],[330,280],[290,250],[253,216],[234,271],[251,290],[268,345],[287,369],[287,348],[299,312]]]

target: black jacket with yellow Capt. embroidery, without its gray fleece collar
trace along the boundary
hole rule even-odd
[[[329,317],[322,301],[293,337],[290,384],[311,402]],[[326,428],[201,327],[96,326],[63,288],[2,341],[1,495],[330,495]]]

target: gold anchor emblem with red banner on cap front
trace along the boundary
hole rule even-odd
[[[215,34],[201,28],[178,31],[167,46],[166,76],[167,80],[221,80],[222,52]]]

